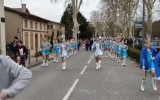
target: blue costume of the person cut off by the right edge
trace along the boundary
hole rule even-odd
[[[158,80],[160,80],[160,53],[155,58],[155,73]]]

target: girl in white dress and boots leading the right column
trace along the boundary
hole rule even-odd
[[[96,41],[92,45],[92,50],[94,51],[97,70],[101,68],[101,56],[103,54],[100,39],[97,37]]]

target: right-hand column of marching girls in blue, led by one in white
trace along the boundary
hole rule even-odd
[[[103,53],[126,66],[128,46],[125,44],[124,39],[97,37],[92,45],[92,50],[96,59],[96,69],[100,69]]]

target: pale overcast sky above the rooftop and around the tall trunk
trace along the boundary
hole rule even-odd
[[[60,22],[63,12],[66,8],[64,2],[51,3],[50,0],[22,0],[26,4],[31,14],[38,15],[52,21]],[[80,12],[90,19],[90,13],[98,10],[100,0],[84,0]],[[21,0],[4,0],[4,5],[11,8],[20,8]]]

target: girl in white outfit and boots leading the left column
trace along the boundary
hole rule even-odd
[[[62,69],[66,70],[67,43],[65,42],[65,39],[62,40],[60,45],[60,54],[62,58]]]

